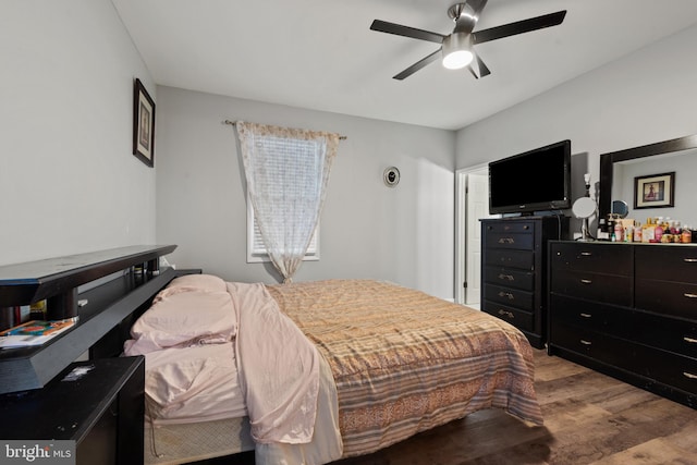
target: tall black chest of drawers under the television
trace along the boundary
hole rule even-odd
[[[547,341],[547,242],[567,229],[563,217],[481,220],[481,309],[518,328],[537,348]]]

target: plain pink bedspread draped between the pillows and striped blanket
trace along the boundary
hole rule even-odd
[[[319,354],[262,284],[228,283],[241,330],[240,386],[258,443],[307,443],[315,430]]]

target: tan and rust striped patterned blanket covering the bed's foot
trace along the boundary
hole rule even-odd
[[[346,457],[482,408],[542,424],[530,345],[502,320],[369,280],[267,289],[331,367]]]

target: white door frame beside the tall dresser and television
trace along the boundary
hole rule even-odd
[[[455,303],[465,305],[467,279],[467,176],[489,170],[489,163],[455,171]]]

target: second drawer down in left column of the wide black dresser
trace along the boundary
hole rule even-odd
[[[551,271],[551,292],[610,305],[629,307],[633,280],[627,276],[576,271]]]

